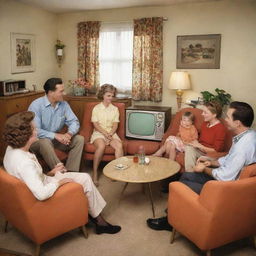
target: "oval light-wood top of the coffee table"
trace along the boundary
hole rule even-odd
[[[123,156],[108,163],[103,173],[106,177],[131,183],[148,183],[166,179],[180,170],[180,165],[168,158],[147,156],[148,165],[133,162],[133,156]],[[122,164],[125,169],[117,169],[116,165]]]

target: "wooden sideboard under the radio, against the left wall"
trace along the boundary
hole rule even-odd
[[[6,149],[6,144],[2,139],[6,119],[15,113],[26,111],[33,100],[43,95],[44,91],[38,91],[0,97],[0,161],[3,160]]]

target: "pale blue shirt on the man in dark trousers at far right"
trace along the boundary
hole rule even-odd
[[[228,154],[218,159],[220,167],[212,170],[216,180],[236,180],[245,165],[256,162],[256,131],[247,130],[233,138]]]

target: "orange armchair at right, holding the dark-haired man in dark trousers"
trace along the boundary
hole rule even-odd
[[[244,174],[245,173],[245,174]],[[256,164],[236,181],[209,181],[201,194],[181,182],[169,185],[168,222],[207,251],[256,235]],[[249,177],[249,178],[246,178]]]

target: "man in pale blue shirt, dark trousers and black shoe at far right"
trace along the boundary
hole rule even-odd
[[[216,161],[200,157],[194,172],[184,172],[180,182],[200,194],[209,180],[232,181],[239,178],[241,169],[256,162],[256,131],[250,129],[254,113],[252,107],[244,102],[234,101],[227,111],[228,129],[234,132],[233,143],[224,157]],[[154,230],[172,230],[167,217],[148,219],[147,224]]]

